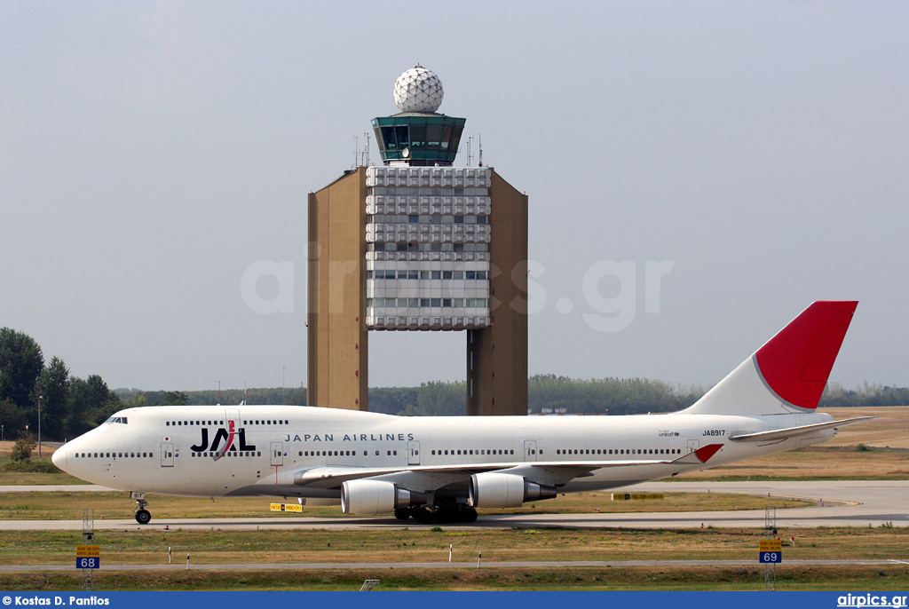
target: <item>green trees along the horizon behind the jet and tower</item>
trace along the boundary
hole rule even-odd
[[[705,393],[699,385],[644,378],[575,379],[536,374],[527,381],[531,414],[646,414],[681,410]],[[6,439],[41,433],[48,440],[84,434],[118,410],[166,404],[306,404],[305,387],[205,391],[111,390],[98,374],[82,379],[59,357],[45,364],[33,338],[0,329],[0,425]],[[466,413],[463,381],[431,381],[416,387],[373,387],[370,410],[405,416]],[[909,388],[864,383],[854,389],[828,384],[820,407],[909,404]],[[325,404],[317,404],[325,405]],[[330,405],[330,404],[329,404]]]

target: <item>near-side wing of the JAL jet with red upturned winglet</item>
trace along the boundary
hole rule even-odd
[[[412,479],[435,479],[445,484],[466,482],[473,474],[514,470],[535,477],[534,472],[546,478],[562,478],[565,484],[573,478],[594,470],[609,467],[644,467],[647,465],[677,464],[700,466],[707,462],[723,444],[709,444],[677,459],[616,460],[616,461],[530,461],[493,464],[404,465],[399,467],[344,467],[327,466],[300,470],[294,474],[294,484],[313,488],[337,488],[348,480],[405,474]]]

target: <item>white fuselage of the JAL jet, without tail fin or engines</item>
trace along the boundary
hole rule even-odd
[[[607,489],[823,442],[814,434],[736,443],[733,434],[832,421],[821,413],[636,416],[401,417],[310,406],[154,406],[125,410],[65,444],[55,464],[95,484],[155,494],[336,498],[328,484],[295,484],[316,468],[401,468],[507,464],[613,464],[591,468],[561,492]],[[230,429],[233,424],[234,436]],[[225,446],[230,448],[225,452]],[[672,464],[723,444],[709,464]],[[223,454],[223,456],[222,456]],[[648,467],[615,462],[665,461]],[[536,467],[535,475],[540,470]],[[376,479],[395,482],[399,474]],[[437,484],[438,485],[438,484]]]

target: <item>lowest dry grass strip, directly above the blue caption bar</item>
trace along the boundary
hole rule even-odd
[[[78,572],[0,574],[5,591],[78,590]],[[552,569],[409,569],[322,571],[95,572],[95,591],[253,590],[356,591],[378,579],[376,591],[621,591],[764,590],[764,569],[753,567],[614,567]],[[776,569],[777,590],[904,592],[909,572],[897,566],[786,567]]]

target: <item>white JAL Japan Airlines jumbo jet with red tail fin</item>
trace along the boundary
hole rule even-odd
[[[472,522],[515,507],[824,442],[817,404],[857,303],[816,302],[692,406],[650,416],[403,417],[290,405],[147,406],[54,454],[65,472],[145,494],[270,495],[346,514]]]

